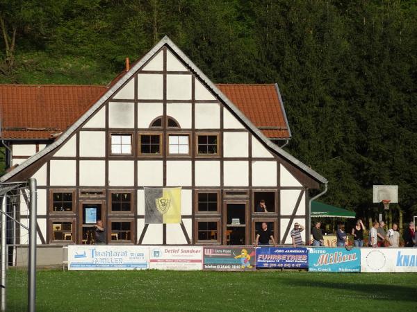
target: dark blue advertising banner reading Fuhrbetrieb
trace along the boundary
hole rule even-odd
[[[307,248],[256,248],[256,268],[308,268]]]

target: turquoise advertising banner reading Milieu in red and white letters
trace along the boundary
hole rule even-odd
[[[361,250],[309,248],[310,272],[360,272]]]

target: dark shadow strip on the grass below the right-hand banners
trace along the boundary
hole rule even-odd
[[[375,297],[378,300],[397,300],[404,302],[417,302],[417,286],[398,286],[387,282],[386,285],[382,284],[363,284],[359,283],[345,283],[334,281],[318,281],[311,280],[306,283],[305,280],[286,278],[281,279],[280,283],[287,284],[288,286],[297,287],[311,287],[311,288],[327,288],[341,291],[352,291],[360,293],[361,295],[369,295],[369,299],[373,300]]]

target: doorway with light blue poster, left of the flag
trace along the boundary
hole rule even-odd
[[[97,220],[101,220],[106,227],[104,207],[106,207],[104,200],[80,201],[79,225],[81,229],[79,231],[79,243],[87,245],[95,243],[94,225]]]

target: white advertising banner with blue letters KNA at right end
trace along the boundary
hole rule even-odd
[[[417,248],[363,248],[361,272],[417,272]]]

